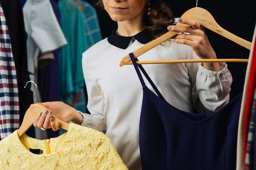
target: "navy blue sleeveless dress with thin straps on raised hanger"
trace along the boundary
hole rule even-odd
[[[130,58],[144,91],[139,122],[142,169],[234,170],[242,94],[216,113],[187,113],[168,104],[132,53]],[[139,68],[158,96],[146,87]]]

